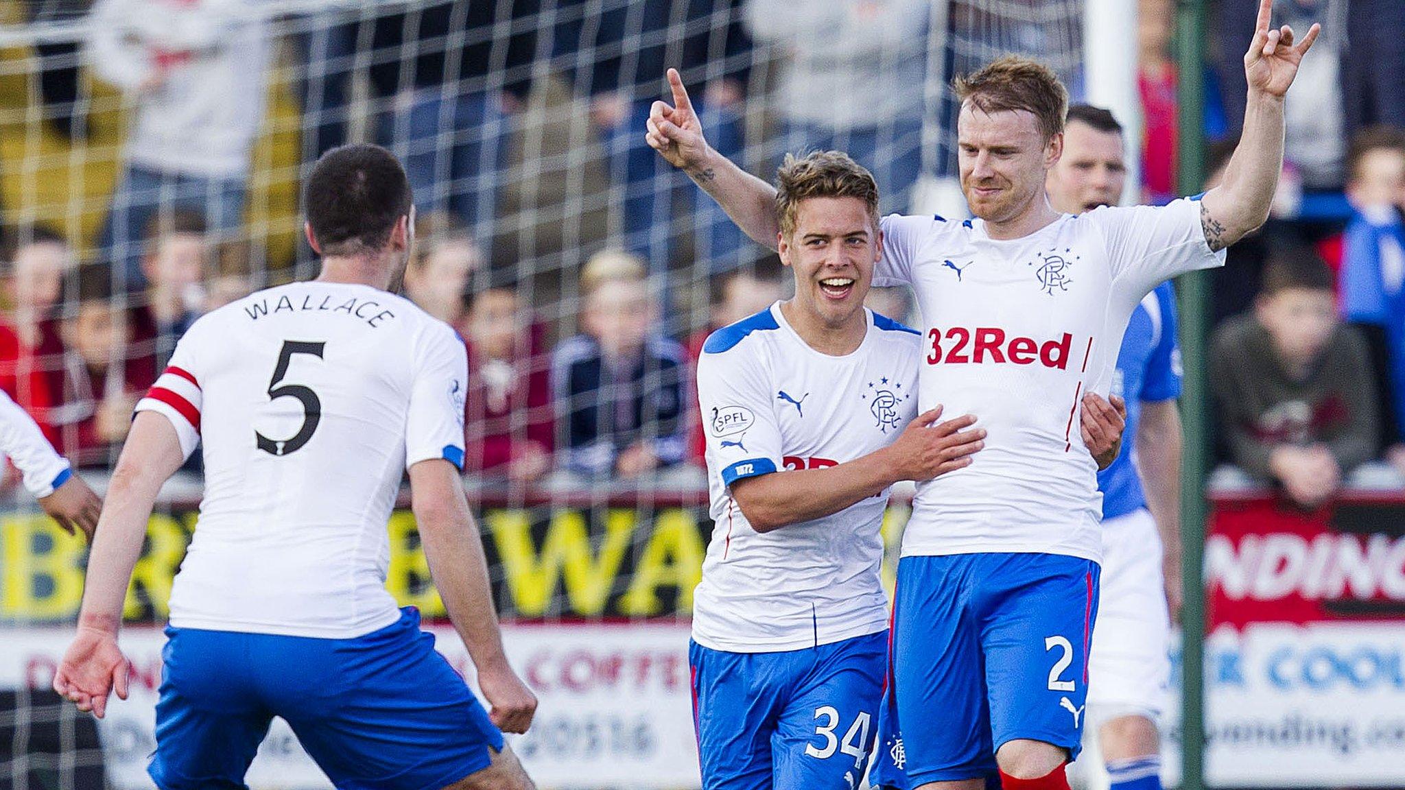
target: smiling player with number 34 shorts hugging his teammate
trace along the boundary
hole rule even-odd
[[[881,699],[888,488],[968,465],[984,432],[936,423],[940,406],[913,419],[922,337],[863,306],[873,176],[821,152],[777,181],[795,297],[712,333],[698,360],[718,524],[693,611],[698,751],[708,790],[847,790]],[[1100,426],[1109,462],[1120,427]]]

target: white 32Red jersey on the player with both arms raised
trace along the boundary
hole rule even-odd
[[[1177,274],[1224,264],[1200,201],[1064,215],[1023,239],[981,219],[885,216],[875,285],[912,284],[922,311],[919,408],[974,413],[971,465],[917,486],[903,555],[1102,557],[1097,465],[1079,402],[1107,395],[1137,304]]]

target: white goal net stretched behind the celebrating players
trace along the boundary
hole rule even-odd
[[[648,149],[663,69],[752,173],[843,149],[884,211],[919,209],[954,174],[950,79],[1014,52],[1076,93],[1082,15],[1080,0],[3,0],[0,387],[101,484],[183,322],[315,274],[299,188],[318,156],[385,145],[419,216],[406,294],[476,360],[466,484],[509,651],[542,700],[514,749],[542,787],[694,786],[686,644],[712,522],[690,354],[788,273]],[[607,298],[621,280],[645,285]],[[875,298],[910,316],[902,294]],[[580,335],[649,337],[641,389],[562,384]],[[125,611],[133,697],[97,725],[45,690],[86,547],[10,491],[0,787],[148,787],[198,467],[152,519]],[[898,500],[891,547],[903,520]],[[471,676],[407,510],[389,536],[389,589]],[[249,782],[326,786],[281,724]]]

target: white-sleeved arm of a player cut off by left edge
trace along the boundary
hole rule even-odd
[[[63,531],[73,534],[77,529],[93,540],[103,500],[53,451],[34,417],[4,392],[0,392],[0,451],[10,455],[24,475],[24,488]]]

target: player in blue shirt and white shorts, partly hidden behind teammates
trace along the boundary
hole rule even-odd
[[[1116,205],[1125,176],[1123,128],[1113,114],[1069,107],[1064,156],[1047,183],[1054,209]],[[1175,292],[1162,283],[1132,311],[1113,373],[1113,392],[1127,399],[1137,462],[1124,453],[1097,475],[1103,574],[1087,720],[1097,727],[1113,790],[1161,790],[1156,715],[1170,680],[1168,614],[1180,603],[1179,357]]]

